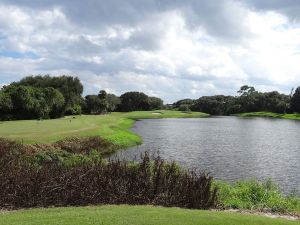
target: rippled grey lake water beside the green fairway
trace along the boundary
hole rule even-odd
[[[217,179],[272,178],[285,193],[300,194],[300,122],[284,119],[209,117],[147,119],[132,131],[140,146],[116,156],[129,160],[159,152],[186,168]]]

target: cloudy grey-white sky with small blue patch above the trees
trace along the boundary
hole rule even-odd
[[[0,0],[0,86],[72,75],[165,103],[300,86],[297,0]]]

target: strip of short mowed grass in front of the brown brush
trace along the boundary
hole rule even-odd
[[[152,206],[98,206],[0,212],[0,225],[294,225],[299,221],[232,212]]]

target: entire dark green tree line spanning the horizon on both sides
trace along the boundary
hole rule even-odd
[[[100,90],[82,96],[83,85],[77,77],[29,76],[0,90],[0,120],[47,119],[65,115],[103,114],[114,111],[147,111],[166,108],[162,99],[142,92],[126,92],[121,96]],[[269,111],[300,113],[300,87],[290,95],[277,91],[258,92],[244,85],[237,96],[202,96],[182,99],[173,104],[180,111],[200,111],[211,115]]]

